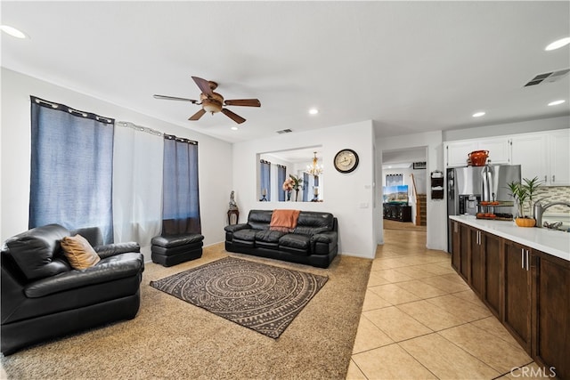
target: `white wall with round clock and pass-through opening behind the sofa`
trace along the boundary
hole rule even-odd
[[[259,202],[256,199],[257,154],[315,145],[322,145],[322,181],[327,187],[323,202]],[[346,148],[358,153],[360,165],[353,173],[340,174],[334,169],[332,161],[338,150]],[[296,208],[330,212],[338,218],[339,253],[373,258],[376,252],[373,160],[370,120],[235,143],[233,183],[240,207],[240,222],[247,220],[251,209]]]

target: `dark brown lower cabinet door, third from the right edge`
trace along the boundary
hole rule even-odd
[[[484,232],[483,233],[483,267],[484,286],[483,301],[490,311],[497,318],[501,318],[501,280],[502,280],[502,260],[501,260],[502,239]]]

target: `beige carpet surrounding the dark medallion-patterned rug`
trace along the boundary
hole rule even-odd
[[[228,255],[223,244],[171,268],[149,263],[132,320],[2,358],[9,379],[345,379],[371,260],[338,256],[328,269],[231,254],[328,276],[278,338],[184,303],[149,282]]]

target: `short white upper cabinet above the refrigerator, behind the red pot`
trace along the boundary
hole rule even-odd
[[[506,136],[485,140],[446,142],[444,148],[445,167],[467,166],[468,154],[474,150],[489,151],[487,163],[510,164],[510,144]]]

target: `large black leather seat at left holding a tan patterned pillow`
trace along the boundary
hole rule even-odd
[[[61,251],[65,236],[83,236],[101,261],[72,269]],[[49,224],[20,233],[2,247],[0,351],[133,319],[140,305],[144,260],[137,243],[102,245],[98,228]]]

